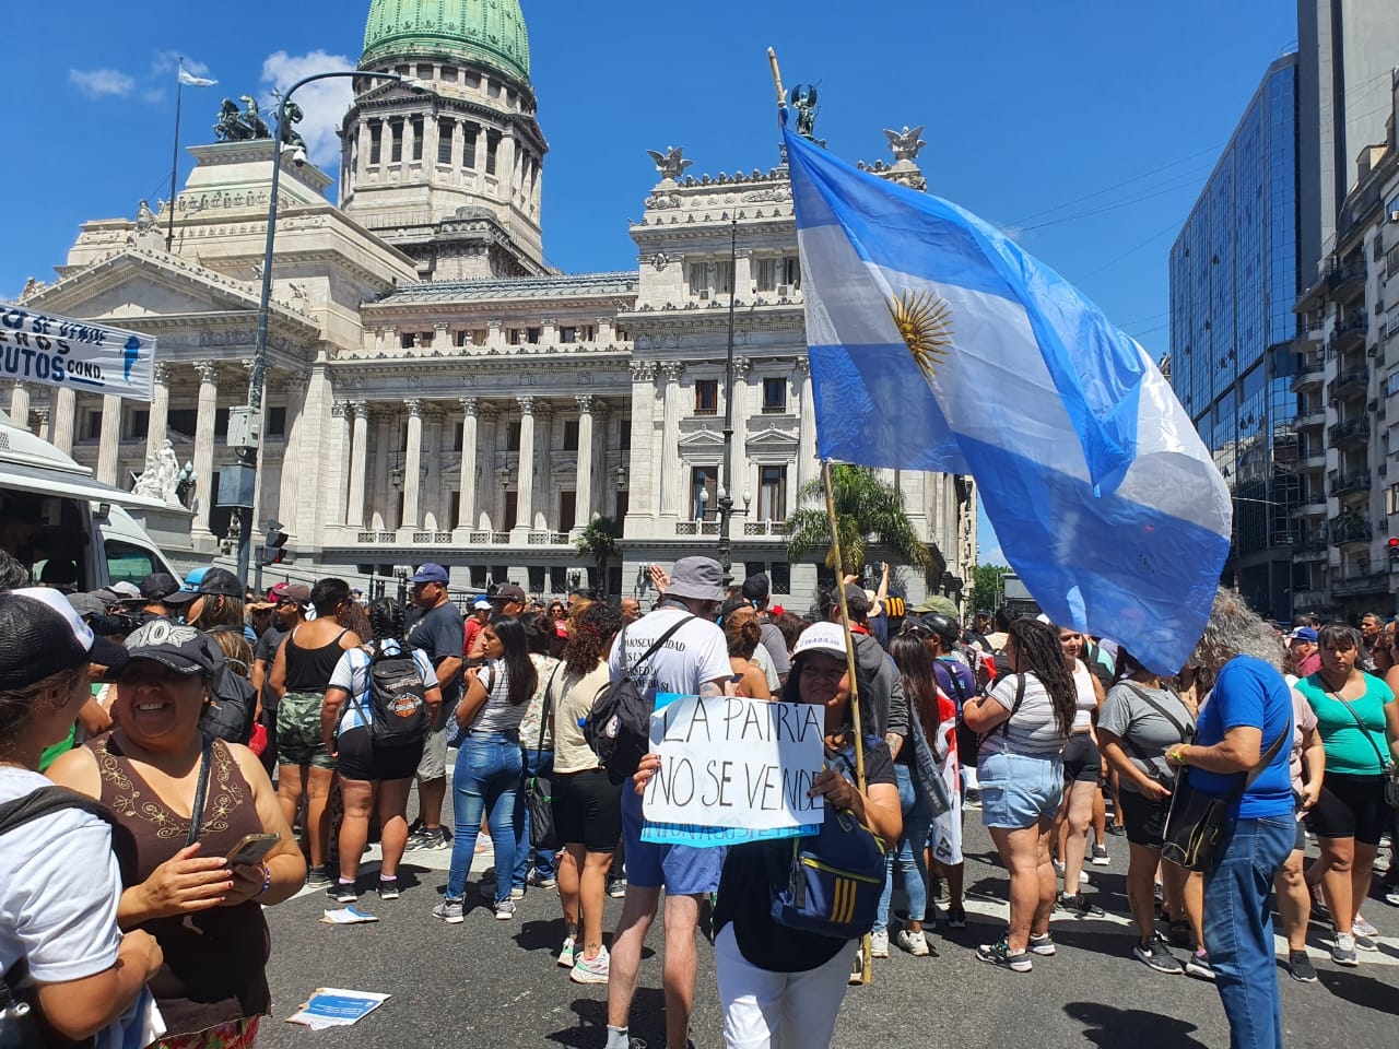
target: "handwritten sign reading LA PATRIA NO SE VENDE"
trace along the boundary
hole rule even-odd
[[[772,831],[821,822],[807,797],[821,772],[824,711],[732,695],[681,697],[651,716],[660,769],[646,785],[646,822]]]

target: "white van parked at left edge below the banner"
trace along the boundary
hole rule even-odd
[[[95,590],[151,572],[179,573],[133,519],[185,515],[94,480],[57,448],[0,411],[0,548],[34,573],[35,583]]]

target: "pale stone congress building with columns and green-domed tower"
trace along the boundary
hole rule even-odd
[[[789,564],[785,538],[820,470],[785,166],[697,175],[658,151],[637,267],[564,274],[544,260],[548,143],[519,4],[374,0],[360,69],[411,81],[354,80],[339,206],[330,176],[281,158],[253,512],[259,536],[273,518],[291,536],[276,578],[362,585],[436,561],[460,590],[645,599],[645,565],[716,552],[732,299],[733,575],[765,569],[775,601],[809,607],[825,551]],[[248,396],[274,155],[270,138],[190,152],[173,201],[85,222],[22,298],[155,336],[154,400],[8,392],[14,418],[102,481],[130,488],[165,442],[193,466],[187,529],[166,537],[180,566],[229,548],[218,477]],[[872,169],[922,189],[915,157]],[[960,599],[971,478],[884,477],[933,554],[908,596]],[[596,516],[623,526],[607,579],[574,545]]]

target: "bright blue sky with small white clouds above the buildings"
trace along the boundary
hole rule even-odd
[[[544,248],[565,271],[630,269],[627,222],[655,183],[646,150],[691,173],[776,162],[772,81],[818,85],[817,134],[890,159],[881,129],[926,124],[929,190],[996,222],[1153,354],[1168,345],[1167,252],[1267,63],[1295,46],[1279,0],[876,6],[806,0],[523,0],[544,162]],[[217,77],[186,88],[185,144],[210,141],[225,95],[264,98],[358,60],[368,0],[238,6],[28,4],[7,56],[0,299],[53,266],[92,218],[169,193],[175,56]],[[336,83],[337,87],[348,81]],[[343,88],[341,88],[343,90]],[[333,171],[344,97],[298,101]],[[192,161],[180,158],[180,182]],[[982,562],[1000,561],[985,518]]]

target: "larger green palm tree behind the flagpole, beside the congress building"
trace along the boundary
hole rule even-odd
[[[898,561],[932,568],[928,545],[918,538],[904,494],[884,484],[867,466],[831,467],[831,494],[835,498],[835,524],[839,529],[841,562],[835,564],[831,545],[831,519],[825,512],[825,483],[816,477],[797,491],[800,506],[788,518],[788,561],[800,561],[813,547],[825,547],[825,566],[838,575],[859,575],[867,547],[888,550]]]

